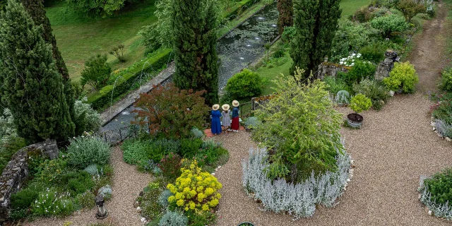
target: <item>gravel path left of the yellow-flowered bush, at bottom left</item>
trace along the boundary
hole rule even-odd
[[[117,226],[143,225],[141,217],[133,208],[135,198],[143,187],[151,180],[150,174],[138,172],[134,165],[129,165],[122,160],[122,151],[119,147],[113,149],[112,165],[114,167],[112,200],[106,204],[109,217],[105,220],[97,220],[95,213],[97,208],[75,213],[67,218],[43,218],[34,222],[27,222],[30,226],[63,225],[64,222],[73,222],[71,226],[85,226],[97,222],[109,223]]]

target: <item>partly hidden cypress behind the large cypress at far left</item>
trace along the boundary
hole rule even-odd
[[[54,57],[58,72],[64,78],[64,94],[66,95],[66,102],[69,106],[71,119],[74,119],[73,105],[75,103],[75,99],[72,84],[71,81],[69,81],[69,71],[66,68],[66,64],[64,64],[61,52],[58,50],[57,39],[55,39],[55,35],[52,33],[52,27],[50,26],[49,18],[47,18],[45,14],[46,11],[44,10],[43,1],[44,0],[20,0],[25,8],[25,11],[27,11],[28,15],[30,15],[32,20],[35,22],[35,25],[42,25],[42,28],[44,29],[42,32],[44,41],[52,44],[52,55]]]

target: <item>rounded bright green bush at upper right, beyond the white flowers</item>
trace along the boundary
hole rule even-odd
[[[392,32],[404,32],[408,29],[408,24],[405,22],[405,18],[397,14],[377,17],[371,20],[370,23],[372,28],[376,28],[381,31],[383,37],[389,37]]]

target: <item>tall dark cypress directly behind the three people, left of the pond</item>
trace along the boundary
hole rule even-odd
[[[174,84],[206,90],[206,104],[218,102],[217,5],[215,0],[173,0]]]

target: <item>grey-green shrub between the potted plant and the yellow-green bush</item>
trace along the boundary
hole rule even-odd
[[[377,81],[364,79],[359,84],[353,85],[355,93],[361,93],[369,97],[372,102],[372,107],[379,110],[383,107],[384,102],[388,100],[388,89],[384,85],[380,85]]]

